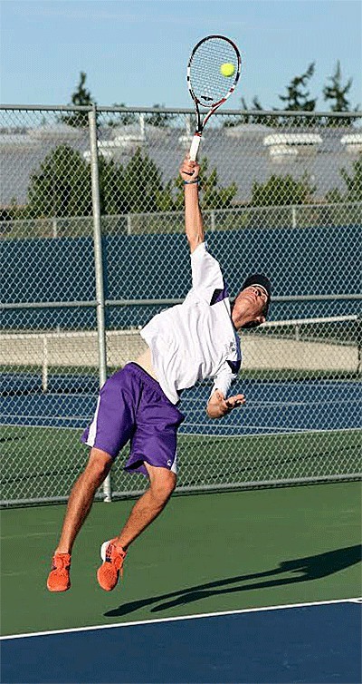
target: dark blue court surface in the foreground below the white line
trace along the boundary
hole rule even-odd
[[[361,682],[360,600],[4,637],[2,682]]]

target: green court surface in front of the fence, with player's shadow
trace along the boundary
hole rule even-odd
[[[100,543],[131,501],[95,503],[71,590],[45,582],[64,505],[2,512],[2,634],[360,596],[361,485],[174,496],[129,550],[124,581],[96,581]]]

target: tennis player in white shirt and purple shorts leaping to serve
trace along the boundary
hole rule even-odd
[[[94,494],[110,473],[120,450],[130,442],[129,473],[149,478],[148,490],[135,503],[124,527],[101,546],[100,587],[111,591],[122,574],[129,549],[165,508],[176,487],[176,433],[184,420],[181,392],[213,378],[206,406],[209,418],[222,418],[242,406],[242,394],[230,387],[242,364],[237,331],[265,321],[271,283],[262,274],[247,278],[230,302],[219,263],[207,251],[198,201],[199,165],[187,155],[180,168],[185,184],[186,237],[191,251],[192,288],[181,305],[152,318],[141,330],[147,351],[111,376],[100,390],[96,412],[81,441],[90,457],[74,484],[52,558],[49,591],[71,586],[71,549]]]

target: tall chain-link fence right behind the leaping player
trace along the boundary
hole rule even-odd
[[[194,114],[3,106],[0,119],[1,501],[58,502],[100,384],[190,288],[177,170]],[[211,421],[210,386],[183,395],[179,492],[361,473],[361,122],[225,111],[205,130],[209,249],[233,295],[262,270],[273,301],[242,335],[246,406]],[[98,497],[143,491],[126,456]]]

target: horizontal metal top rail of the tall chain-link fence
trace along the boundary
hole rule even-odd
[[[134,112],[134,113],[167,113],[167,114],[195,114],[194,109],[189,107],[116,107],[100,105],[70,105],[70,104],[0,104],[0,111],[16,110],[25,112]],[[223,112],[215,112],[217,116],[271,116],[273,118],[286,117],[328,117],[340,119],[356,119],[362,117],[362,111],[358,112],[290,112],[284,110],[243,110],[224,109]]]

